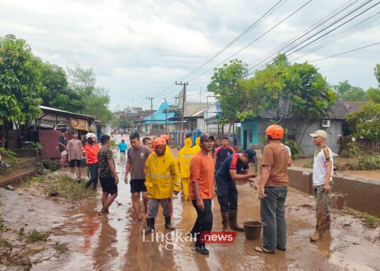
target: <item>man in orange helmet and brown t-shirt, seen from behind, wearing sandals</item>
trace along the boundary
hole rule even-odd
[[[260,216],[263,244],[256,251],[274,253],[286,250],[285,199],[288,192],[288,157],[281,143],[284,129],[270,125],[265,131],[268,145],[264,147],[260,176]]]

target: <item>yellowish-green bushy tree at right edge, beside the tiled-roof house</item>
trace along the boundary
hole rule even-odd
[[[356,138],[380,140],[380,104],[369,101],[346,116]]]

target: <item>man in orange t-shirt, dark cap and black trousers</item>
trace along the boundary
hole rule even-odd
[[[210,252],[205,244],[201,243],[200,237],[202,232],[211,231],[213,219],[211,199],[214,196],[214,162],[210,153],[213,145],[214,137],[208,133],[202,133],[201,151],[194,156],[190,164],[190,197],[198,214],[191,234],[196,238],[196,251],[204,255]]]

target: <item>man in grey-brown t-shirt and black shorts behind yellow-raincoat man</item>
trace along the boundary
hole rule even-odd
[[[145,182],[145,162],[151,154],[149,147],[141,144],[140,136],[137,132],[129,136],[129,141],[132,148],[127,151],[127,168],[125,171],[124,182],[128,184],[128,174],[131,174],[131,193],[133,200],[133,209],[137,215],[137,221],[142,220],[141,206],[140,206],[140,193],[144,202],[145,212],[147,210],[147,196]]]

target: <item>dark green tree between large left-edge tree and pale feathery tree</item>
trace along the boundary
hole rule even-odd
[[[43,64],[43,82],[46,91],[42,94],[43,105],[74,113],[83,113],[85,103],[82,95],[68,86],[65,70],[55,64]]]

